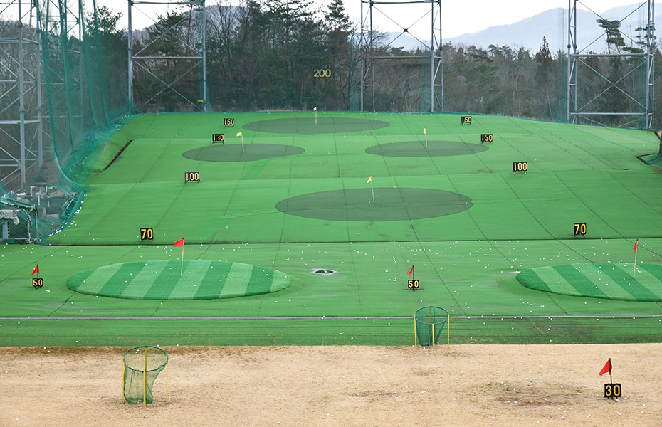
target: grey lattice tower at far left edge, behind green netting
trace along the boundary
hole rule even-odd
[[[0,4],[0,177],[24,189],[26,174],[43,162],[43,99],[38,1]]]

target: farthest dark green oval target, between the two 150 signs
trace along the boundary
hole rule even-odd
[[[243,125],[243,129],[253,132],[270,132],[280,134],[322,134],[359,132],[362,130],[376,130],[387,127],[389,122],[382,120],[355,119],[350,117],[293,117],[283,119],[260,120]]]

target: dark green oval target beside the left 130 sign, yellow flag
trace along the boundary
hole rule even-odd
[[[182,153],[186,159],[201,162],[255,162],[275,157],[295,156],[305,150],[293,145],[281,144],[216,144],[190,149]]]

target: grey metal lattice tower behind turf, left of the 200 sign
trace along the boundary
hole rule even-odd
[[[189,1],[168,1],[168,0],[128,0],[129,4],[129,33],[128,33],[128,50],[129,50],[129,103],[135,106],[138,110],[152,108],[158,103],[160,95],[165,93],[174,93],[185,105],[191,107],[194,111],[207,111],[209,100],[207,96],[207,77],[206,77],[206,8],[205,0],[189,0]],[[154,13],[146,13],[143,8],[153,5],[170,5],[189,6],[189,11],[182,15],[182,19],[170,23],[168,26],[162,26],[154,20]],[[145,14],[154,21],[154,28],[160,32],[152,41],[149,41],[144,46],[139,46],[134,39],[132,17],[136,12]],[[194,25],[195,23],[195,25]],[[186,26],[186,39],[177,36],[177,29]],[[174,36],[181,46],[183,47],[182,53],[175,56],[164,56],[159,53],[157,49],[152,49],[154,44],[166,35]],[[164,73],[159,73],[159,64],[164,61],[170,63],[182,63],[184,68],[177,73],[177,75],[166,76]],[[140,71],[139,71],[140,70]],[[192,73],[199,71],[201,73],[201,88],[199,95],[193,97],[190,93],[182,93],[178,90],[177,82]],[[133,78],[136,72],[144,72],[151,75],[152,78],[159,83],[159,90],[152,93],[142,94],[143,100],[137,101],[135,88],[133,85]],[[156,104],[155,104],[156,103]]]

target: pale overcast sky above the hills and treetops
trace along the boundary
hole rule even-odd
[[[207,6],[217,4],[219,0],[207,0]],[[222,2],[228,1],[230,4],[241,4],[239,0],[221,0]],[[328,4],[327,0],[315,0],[315,4],[320,5],[320,9],[324,10],[325,5]],[[122,24],[127,27],[127,1],[126,0],[96,0],[97,6],[108,6],[115,11],[121,11],[123,21]],[[631,6],[636,1],[624,0],[584,0],[582,3],[577,3],[577,7],[581,9],[592,9],[597,13],[606,11],[616,6]],[[89,4],[88,4],[89,6]],[[137,5],[133,9],[133,27],[144,28],[149,26],[154,21],[157,11],[164,14],[164,11],[169,7],[174,9],[177,6],[151,6],[146,4]],[[179,6],[181,7],[181,6]],[[539,14],[548,9],[557,7],[568,7],[567,0],[546,0],[546,1],[532,1],[532,0],[463,0],[463,1],[441,1],[441,25],[443,38],[450,38],[459,36],[463,33],[473,33],[483,30],[490,26],[503,25],[507,23],[515,23],[521,21],[529,16]],[[345,0],[345,9],[353,21],[359,23],[361,0]],[[406,6],[401,5],[387,5],[382,4],[373,9],[373,23],[379,31],[399,31],[398,23],[405,28],[426,28],[425,32],[429,33],[430,28],[430,4],[409,4]],[[634,8],[625,7],[625,13],[632,11]],[[368,10],[367,4],[364,4],[364,11]],[[152,19],[150,19],[150,17]],[[420,21],[419,21],[420,19]],[[395,23],[394,23],[395,21]],[[416,21],[419,21],[416,23]],[[423,31],[421,29],[420,31]],[[429,38],[426,34],[421,34],[425,38]]]

